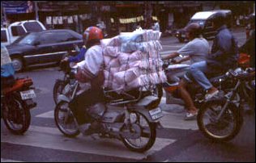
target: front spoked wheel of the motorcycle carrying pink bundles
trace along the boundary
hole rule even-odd
[[[54,119],[58,129],[68,137],[79,135],[79,129],[75,122],[75,117],[70,111],[68,102],[59,102],[54,110]]]

